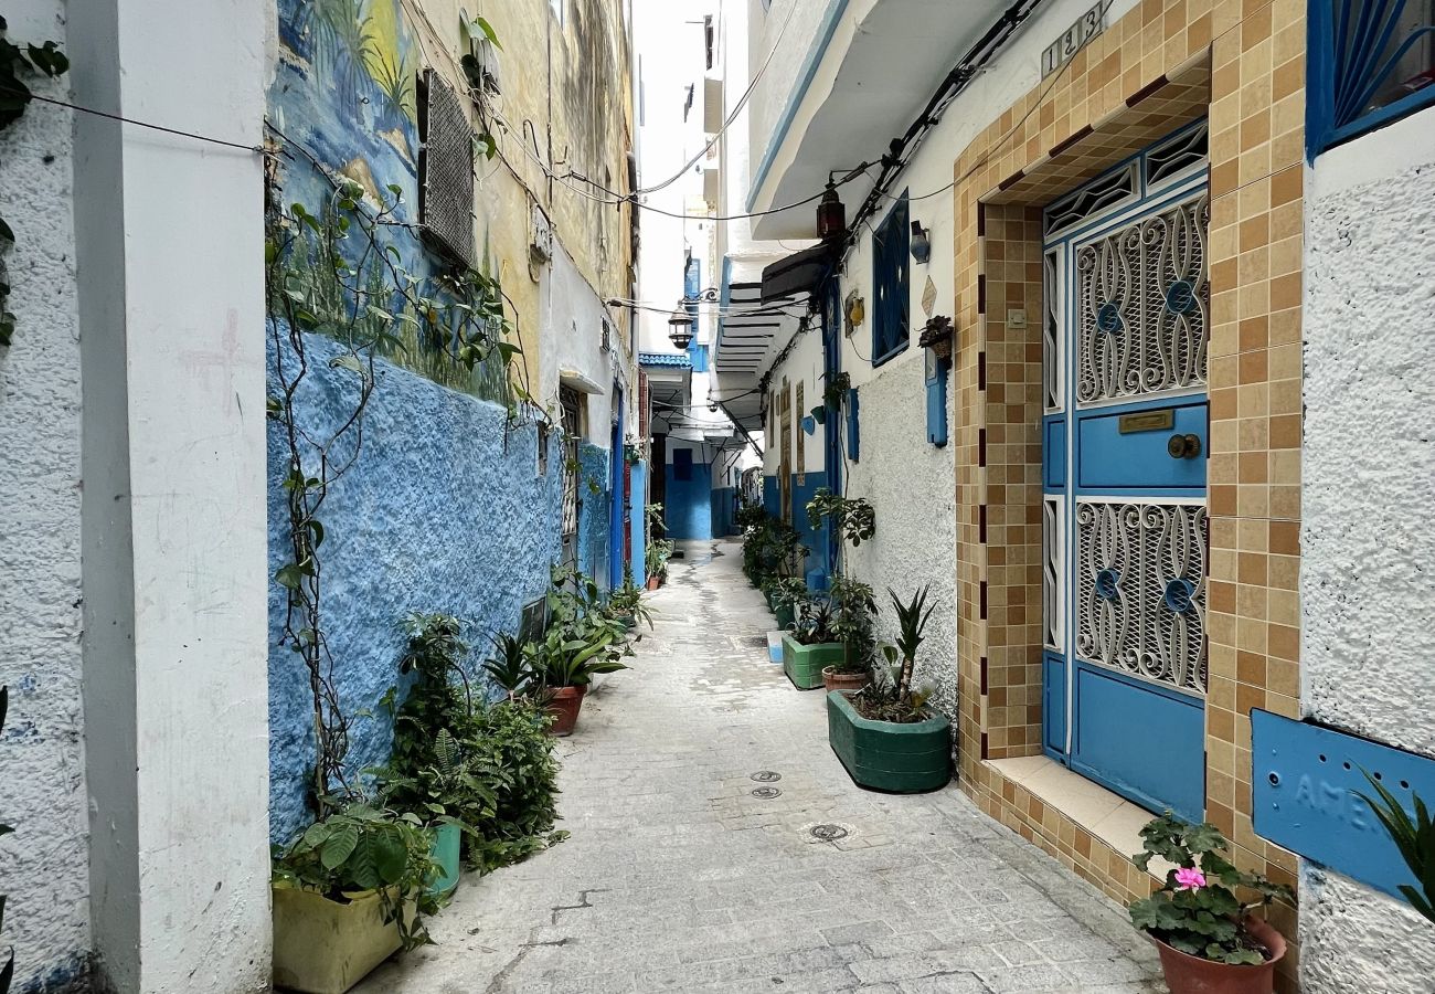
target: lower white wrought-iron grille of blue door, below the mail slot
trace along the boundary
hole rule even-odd
[[[1076,549],[1076,655],[1205,694],[1205,507],[1083,500]]]

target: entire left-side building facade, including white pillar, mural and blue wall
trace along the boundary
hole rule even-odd
[[[387,756],[406,613],[478,645],[550,566],[641,563],[631,11],[19,7],[10,42],[70,63],[0,134],[14,990],[268,990],[314,754],[290,419],[344,467],[313,544],[333,689],[373,715],[354,770]],[[465,358],[416,300],[491,307],[468,328],[505,348]]]

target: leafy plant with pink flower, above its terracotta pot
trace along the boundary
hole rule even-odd
[[[1223,855],[1228,845],[1214,825],[1190,825],[1167,812],[1141,829],[1145,852],[1131,858],[1147,869],[1159,856],[1174,869],[1149,898],[1131,902],[1131,922],[1174,949],[1228,964],[1260,964],[1270,951],[1246,926],[1256,908],[1296,895],[1283,883],[1237,869]],[[1254,896],[1243,901],[1237,889]]]

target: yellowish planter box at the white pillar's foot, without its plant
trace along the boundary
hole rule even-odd
[[[403,914],[413,914],[412,904]],[[399,922],[383,921],[377,891],[339,904],[313,891],[274,888],[276,987],[344,994],[399,945]]]

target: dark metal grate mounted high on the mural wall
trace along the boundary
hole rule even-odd
[[[474,266],[474,132],[453,88],[423,70],[419,93],[419,221],[445,254]]]

